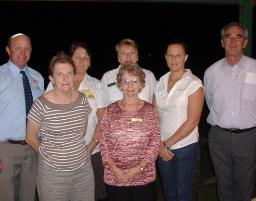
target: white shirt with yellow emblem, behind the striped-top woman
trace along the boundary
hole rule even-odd
[[[52,83],[50,82],[47,86],[46,91],[49,91],[53,88]],[[103,92],[103,88],[101,87],[100,81],[88,74],[84,76],[84,79],[79,85],[78,88],[79,91],[83,92],[85,94],[85,97],[87,98],[92,111],[88,116],[88,125],[87,125],[87,131],[85,135],[85,141],[89,143],[92,140],[92,136],[94,134],[94,130],[96,127],[96,124],[98,122],[97,117],[97,109],[105,107],[105,96]],[[99,152],[99,146],[97,146],[92,154]]]

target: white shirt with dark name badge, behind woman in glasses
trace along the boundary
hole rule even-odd
[[[116,76],[119,68],[120,66],[116,69],[106,72],[101,79],[102,87],[104,88],[106,93],[107,105],[123,98],[123,93],[119,90],[116,83]],[[151,71],[146,69],[142,70],[146,74],[146,82],[145,87],[139,93],[139,98],[149,103],[152,103],[153,93],[156,85],[156,78]]]

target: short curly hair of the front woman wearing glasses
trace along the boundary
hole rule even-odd
[[[122,82],[122,76],[127,72],[129,75],[138,76],[142,83],[142,89],[145,86],[146,74],[138,64],[124,64],[119,68],[116,76],[117,87],[120,88]]]

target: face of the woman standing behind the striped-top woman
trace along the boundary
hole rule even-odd
[[[76,74],[85,74],[91,65],[91,58],[87,50],[82,47],[76,48],[72,59],[76,66]]]

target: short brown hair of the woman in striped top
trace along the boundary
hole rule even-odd
[[[57,55],[53,56],[49,65],[49,75],[53,75],[54,68],[58,63],[68,63],[72,66],[74,74],[76,73],[76,67],[72,58],[65,52],[59,52]]]

